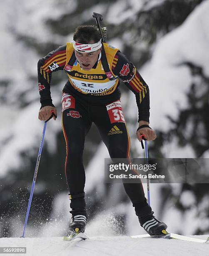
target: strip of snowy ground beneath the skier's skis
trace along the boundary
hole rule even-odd
[[[207,238],[195,236],[196,238]],[[194,243],[179,240],[130,238],[128,236],[90,237],[85,241],[63,241],[54,238],[0,238],[2,246],[26,246],[30,256],[208,256],[208,243]],[[10,254],[13,255],[13,254]],[[20,255],[20,254],[18,254]]]

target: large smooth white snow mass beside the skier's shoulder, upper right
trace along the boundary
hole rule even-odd
[[[182,26],[161,38],[150,63],[141,71],[150,88],[150,119],[154,128],[161,124],[160,129],[167,131],[171,127],[167,115],[176,119],[179,109],[187,107],[186,93],[192,76],[183,65],[185,62],[195,63],[203,67],[206,75],[209,74],[208,11],[209,1],[204,1]]]

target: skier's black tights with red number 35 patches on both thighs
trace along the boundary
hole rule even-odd
[[[129,159],[129,135],[120,107],[114,108],[113,105],[113,108],[110,106],[108,110],[106,105],[90,105],[69,95],[66,95],[64,99],[62,128],[67,148],[65,175],[70,195],[73,198],[73,195],[84,192],[85,170],[82,156],[85,136],[92,122],[97,126],[112,159]],[[119,101],[117,103],[120,105]],[[134,206],[137,205],[140,208],[147,205],[141,183],[123,183],[123,185]],[[73,214],[84,214],[84,198],[72,199],[70,207]]]

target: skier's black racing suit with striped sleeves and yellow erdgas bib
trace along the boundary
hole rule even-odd
[[[139,119],[149,122],[149,87],[134,65],[118,49],[104,45],[112,75],[109,81],[102,68],[101,56],[90,71],[81,69],[76,60],[68,72],[72,44],[60,46],[38,61],[38,87],[41,108],[54,106],[50,95],[52,72],[64,70],[68,81],[62,91],[62,129],[67,156],[65,174],[70,191],[73,215],[86,215],[85,169],[82,162],[85,136],[92,122],[97,126],[112,159],[129,159],[129,134],[120,103],[119,78],[134,92]],[[101,85],[101,87],[100,87]],[[97,170],[102,172],[103,170]],[[96,174],[95,174],[96,175]],[[137,216],[150,212],[141,183],[123,183]]]

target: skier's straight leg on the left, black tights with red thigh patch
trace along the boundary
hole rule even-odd
[[[91,127],[85,105],[72,95],[62,96],[62,130],[66,141],[65,175],[69,187],[70,207],[73,215],[86,215],[85,170],[83,150],[85,135]]]

